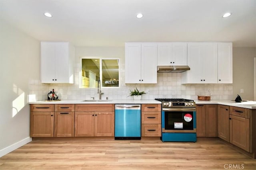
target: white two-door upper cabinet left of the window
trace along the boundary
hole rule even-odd
[[[74,47],[68,42],[41,42],[42,83],[74,83]]]

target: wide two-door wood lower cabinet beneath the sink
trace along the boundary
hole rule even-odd
[[[76,104],[74,136],[114,137],[114,104]]]

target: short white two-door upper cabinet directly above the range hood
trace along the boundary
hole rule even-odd
[[[187,65],[187,43],[158,43],[158,66]]]

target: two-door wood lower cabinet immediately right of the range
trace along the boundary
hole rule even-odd
[[[218,106],[216,104],[196,105],[196,136],[218,136]]]

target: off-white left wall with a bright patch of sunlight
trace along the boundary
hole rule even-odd
[[[31,141],[30,79],[40,79],[40,42],[0,19],[0,156]]]

